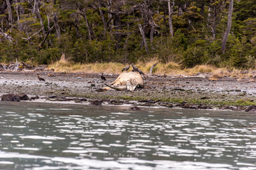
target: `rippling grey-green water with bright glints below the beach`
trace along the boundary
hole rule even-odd
[[[256,169],[255,118],[0,102],[0,169]]]

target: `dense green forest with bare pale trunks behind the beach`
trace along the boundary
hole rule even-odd
[[[255,67],[256,0],[0,0],[0,62]]]

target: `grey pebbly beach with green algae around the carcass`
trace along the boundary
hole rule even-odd
[[[39,81],[36,74],[46,81]],[[43,71],[0,72],[0,94],[16,98],[14,101],[73,102],[88,105],[129,105],[132,110],[146,107],[225,109],[256,111],[255,78],[222,77],[217,81],[207,74],[193,77],[160,75],[147,76],[144,89],[136,91],[102,91],[118,77],[105,74],[65,73]],[[11,96],[10,96],[11,95]],[[24,97],[24,95],[26,95]],[[17,97],[18,96],[18,99]],[[22,96],[22,97],[21,97]],[[11,99],[10,99],[11,100]]]

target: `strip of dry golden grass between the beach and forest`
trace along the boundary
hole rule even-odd
[[[139,69],[146,74],[149,73],[149,70],[153,64],[158,62],[157,60],[151,60],[149,62],[138,62],[136,65]],[[107,63],[89,63],[89,64],[80,64],[68,62],[67,60],[60,60],[53,64],[48,65],[48,69],[55,69],[55,72],[85,72],[88,74],[92,73],[105,73],[105,74],[120,74],[121,70],[125,67],[125,64],[117,62],[107,62]],[[130,67],[129,71],[132,70]],[[175,62],[161,63],[159,62],[156,67],[153,69],[153,74],[158,75],[187,75],[193,76],[198,73],[208,73],[210,74],[210,79],[216,80],[220,77],[237,77],[237,78],[250,78],[253,77],[255,72],[253,70],[242,71],[240,69],[227,69],[227,68],[218,68],[212,65],[197,65],[193,68],[181,67],[181,64]]]

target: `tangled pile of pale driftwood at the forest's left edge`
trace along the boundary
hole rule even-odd
[[[31,64],[26,64],[25,62],[10,62],[9,64],[1,64],[0,63],[0,70],[11,70],[11,71],[18,71],[23,69],[33,69],[34,66]]]

